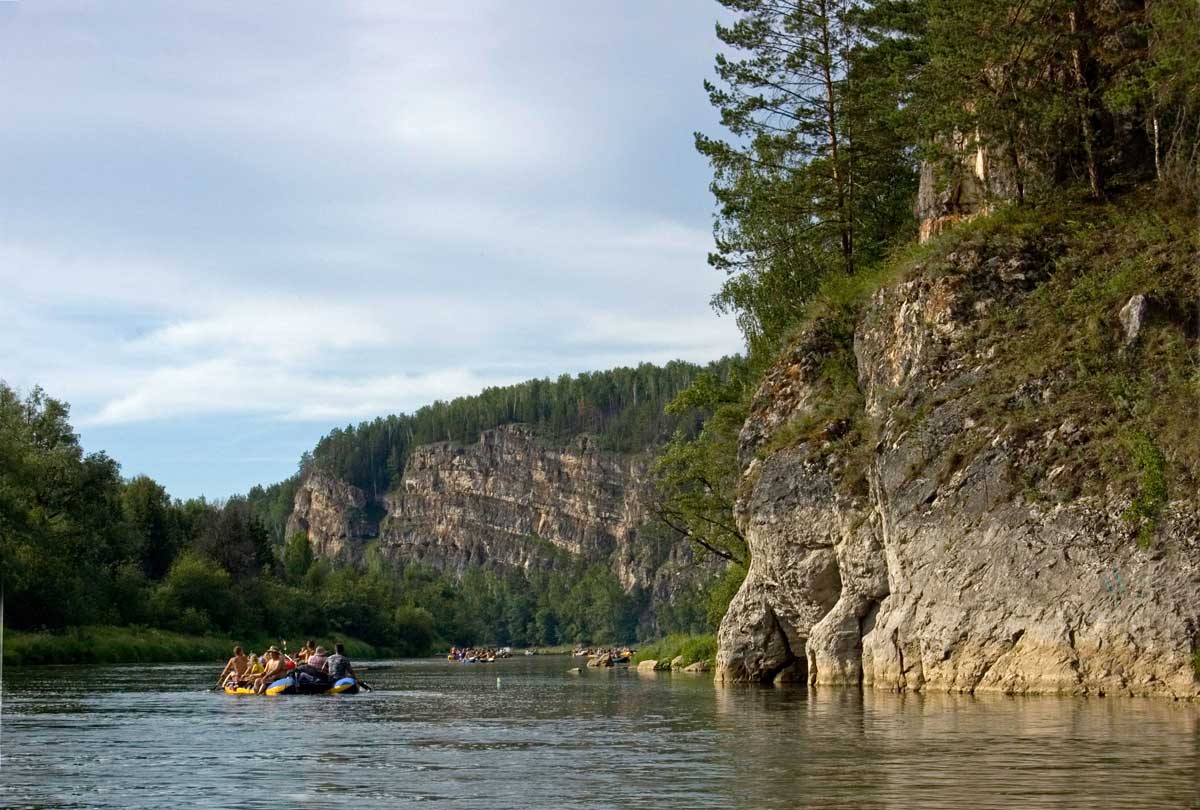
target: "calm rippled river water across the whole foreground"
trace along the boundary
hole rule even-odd
[[[373,662],[371,694],[275,698],[205,691],[217,667],[7,667],[0,805],[1200,808],[1193,704],[578,661]]]

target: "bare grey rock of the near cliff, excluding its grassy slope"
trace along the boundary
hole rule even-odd
[[[1142,548],[1122,520],[1128,497],[1031,491],[1026,470],[1085,442],[1086,426],[1018,433],[983,419],[971,392],[995,365],[976,325],[1046,266],[970,252],[949,264],[884,288],[858,323],[868,446],[822,424],[827,324],[764,380],[740,437],[752,562],[720,629],[718,679],[1196,697],[1196,500],[1168,504]],[[1027,388],[1013,396],[1054,392]],[[779,442],[809,422],[803,440]]]

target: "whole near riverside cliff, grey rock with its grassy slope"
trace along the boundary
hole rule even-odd
[[[720,680],[1200,695],[1200,266],[1145,205],[977,221],[809,322],[742,431]]]

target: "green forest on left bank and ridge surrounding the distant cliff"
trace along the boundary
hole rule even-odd
[[[472,440],[510,421],[536,425],[547,440],[594,430],[607,446],[642,450],[695,434],[702,413],[667,413],[664,404],[697,374],[720,378],[736,364],[642,365],[490,389],[334,431],[301,463],[370,485],[372,460],[390,457],[396,475],[421,442]],[[296,480],[223,502],[173,499],[148,476],[124,479],[106,454],[84,452],[66,403],[0,383],[7,624],[241,638],[336,634],[406,655],[450,643],[631,642],[646,632],[648,594],[626,594],[606,566],[562,553],[546,571],[479,570],[461,581],[376,558],[361,569],[313,559],[302,534],[283,538]],[[656,605],[655,613],[668,630],[703,629],[706,598]]]

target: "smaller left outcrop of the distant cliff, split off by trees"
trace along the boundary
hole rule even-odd
[[[378,535],[366,493],[346,481],[313,472],[296,491],[287,536],[305,532],[313,554],[338,563],[359,562],[368,540]]]

